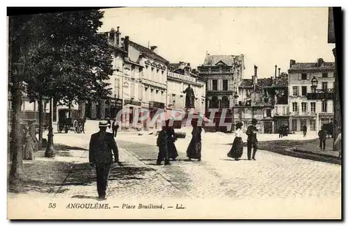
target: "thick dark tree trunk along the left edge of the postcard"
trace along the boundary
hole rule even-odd
[[[17,181],[22,177],[22,131],[20,124],[20,108],[21,108],[21,90],[19,86],[19,77],[13,74],[13,17],[9,17],[9,67],[10,67],[10,81],[12,87],[10,93],[12,95],[12,122],[11,122],[11,154],[12,164],[10,174],[8,176],[9,184],[17,184]]]

